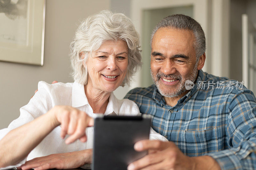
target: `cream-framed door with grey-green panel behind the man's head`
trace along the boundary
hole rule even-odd
[[[208,0],[132,0],[131,1],[131,19],[136,30],[140,34],[142,62],[143,66],[139,73],[134,77],[130,89],[140,86],[148,86],[152,84],[150,75],[150,33],[154,26],[164,17],[176,13],[183,13],[196,19],[202,26],[206,36],[206,44],[208,37],[208,18],[209,17]],[[208,47],[209,50],[211,47]],[[210,55],[210,54],[209,54]],[[209,56],[210,58],[210,56]],[[207,62],[207,61],[206,61]],[[205,64],[204,70],[206,69]]]

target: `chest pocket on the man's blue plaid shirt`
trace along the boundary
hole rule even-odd
[[[182,130],[181,151],[188,156],[201,156],[219,151],[218,128],[202,131]]]

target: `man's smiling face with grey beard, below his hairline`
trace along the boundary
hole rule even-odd
[[[165,97],[186,92],[185,81],[194,82],[197,72],[195,36],[190,30],[159,28],[151,44],[151,76]]]

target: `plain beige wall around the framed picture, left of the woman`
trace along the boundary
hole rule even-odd
[[[110,9],[110,0],[46,0],[44,66],[0,62],[0,129],[19,117],[40,80],[73,82],[69,44],[84,18]]]

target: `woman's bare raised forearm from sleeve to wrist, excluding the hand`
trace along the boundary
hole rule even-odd
[[[11,130],[0,140],[0,167],[15,165],[24,159],[58,124],[52,111]]]

